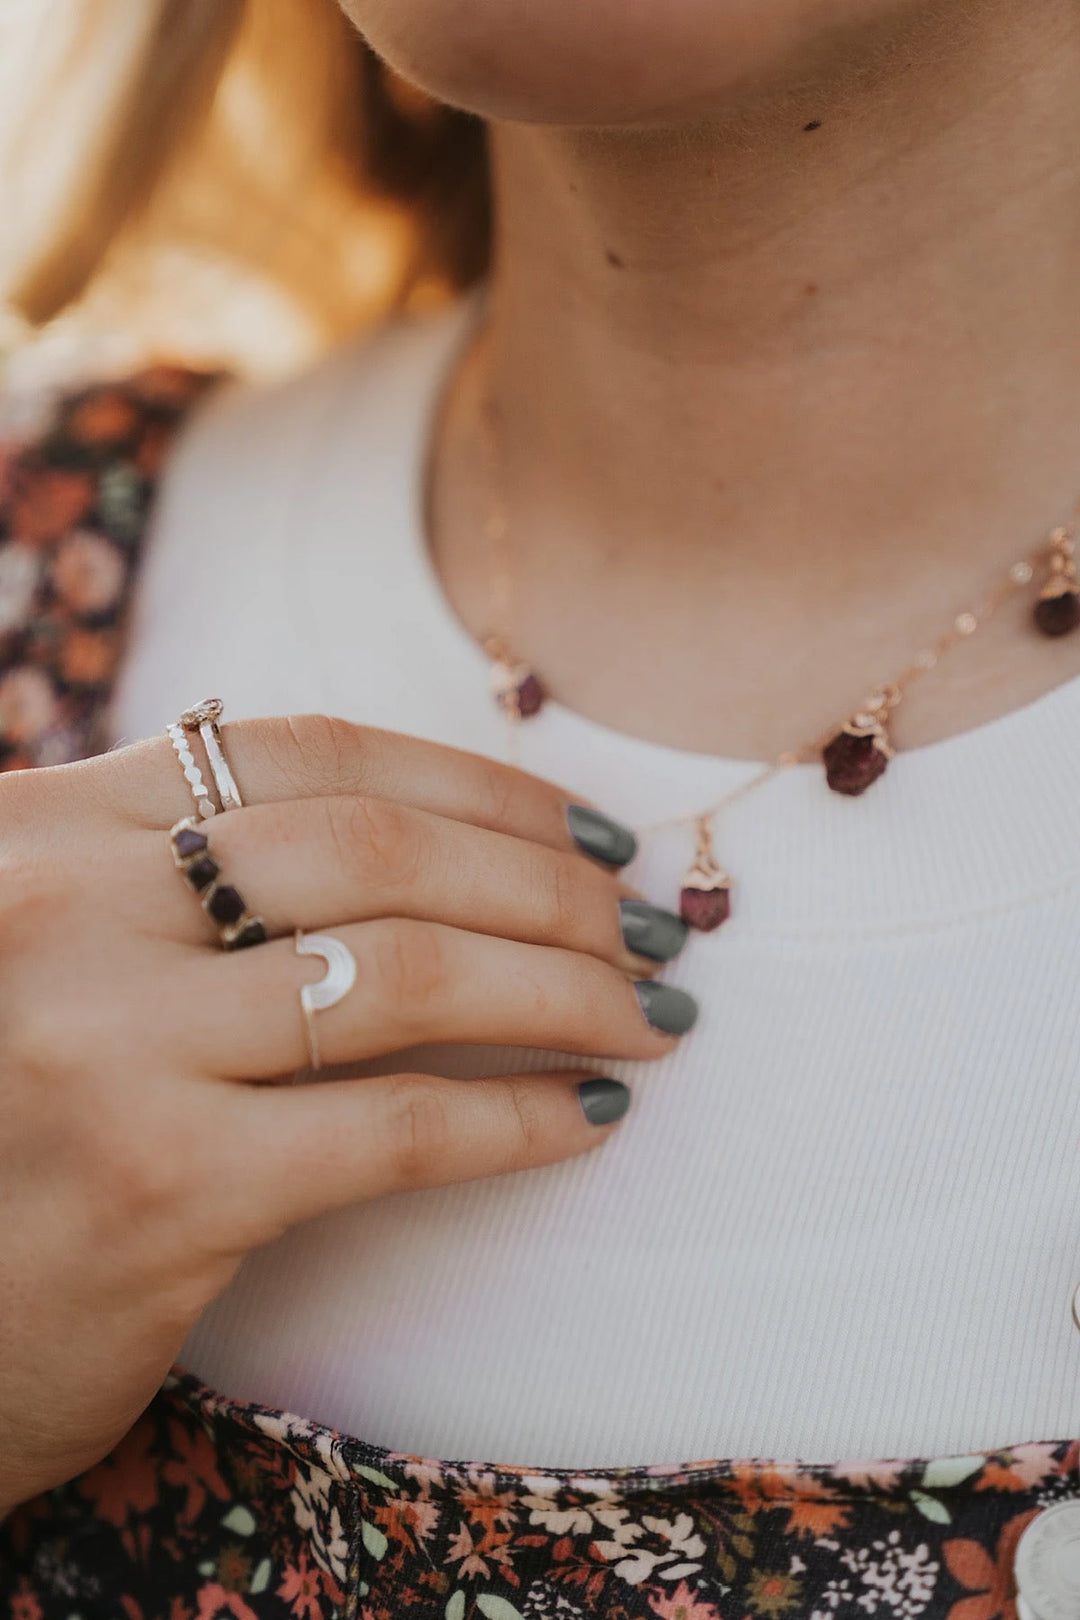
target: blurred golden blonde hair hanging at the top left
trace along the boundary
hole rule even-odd
[[[79,3],[39,120],[108,28],[113,0]],[[483,126],[397,79],[335,0],[139,3],[149,18],[133,60],[62,217],[8,293],[34,326],[162,240],[269,277],[327,339],[483,274]]]

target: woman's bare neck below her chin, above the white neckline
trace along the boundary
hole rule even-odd
[[[920,5],[693,126],[492,131],[515,629],[560,697],[628,724],[620,648],[648,635],[630,729],[789,747],[1069,512],[1078,70],[1072,0]],[[479,386],[449,411],[436,509],[474,629]],[[989,711],[1067,656],[1014,658]],[[955,729],[928,714],[921,740]]]

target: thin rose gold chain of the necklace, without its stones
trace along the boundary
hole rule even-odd
[[[479,334],[479,342],[483,342],[484,332]],[[486,473],[486,492],[487,492],[487,517],[484,523],[484,535],[491,549],[492,567],[492,614],[494,624],[499,629],[492,629],[484,638],[484,651],[492,659],[508,659],[512,656],[512,648],[515,645],[515,580],[513,567],[510,559],[510,517],[507,510],[505,489],[502,480],[502,442],[499,433],[499,411],[491,394],[491,389],[484,392],[481,405],[481,437],[483,437],[483,457],[484,457],[484,473]],[[921,680],[931,671],[938,667],[941,659],[960,642],[970,642],[972,637],[986,624],[997,609],[1009,601],[1018,590],[1023,590],[1035,578],[1040,565],[1048,564],[1054,552],[1062,543],[1069,541],[1070,530],[1054,528],[1044,539],[1033,546],[1025,557],[1018,557],[1009,565],[1004,577],[989,590],[980,601],[972,608],[963,609],[955,614],[947,630],[944,630],[936,642],[931,642],[915,658],[907,664],[907,667],[894,679],[881,687],[876,687],[870,698],[861,705],[865,713],[874,714],[881,719],[887,718],[904,700],[905,693],[916,680]],[[510,763],[517,765],[520,758],[520,726],[521,718],[515,713],[513,705],[504,708],[508,721],[508,758]],[[842,721],[839,724],[844,724]],[[826,727],[811,742],[805,742],[798,748],[789,748],[777,755],[769,765],[764,765],[755,776],[748,778],[738,787],[733,787],[722,799],[714,804],[706,805],[703,810],[695,810],[690,815],[670,816],[664,821],[651,821],[646,826],[635,828],[636,833],[657,833],[665,828],[675,826],[695,826],[701,821],[711,821],[721,813],[721,810],[730,808],[740,799],[748,794],[756,792],[758,787],[764,787],[766,782],[772,781],[774,776],[780,776],[784,771],[790,770],[793,765],[808,765],[819,758],[821,750],[836,735],[839,724]]]

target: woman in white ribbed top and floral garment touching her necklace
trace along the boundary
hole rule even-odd
[[[198,413],[152,740],[2,784],[11,1614],[1075,1614],[1080,16],[348,11],[494,262]]]

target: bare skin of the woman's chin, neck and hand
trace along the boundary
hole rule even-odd
[[[573,706],[683,747],[789,747],[1069,507],[1074,0],[350,11],[492,122],[491,364],[447,392],[431,538],[483,633],[491,387],[510,629]],[[1078,661],[1002,616],[904,740]],[[0,782],[0,1507],[115,1443],[249,1247],[610,1134],[565,1074],[272,1084],[303,1061],[296,990],[319,972],[295,923],[340,928],[359,961],[321,1024],[327,1061],[415,1040],[672,1048],[630,985],[619,880],[570,847],[557,789],[317,718],[227,744],[251,808],[212,844],[279,935],[235,957],[170,863],[189,802],[168,744]]]

